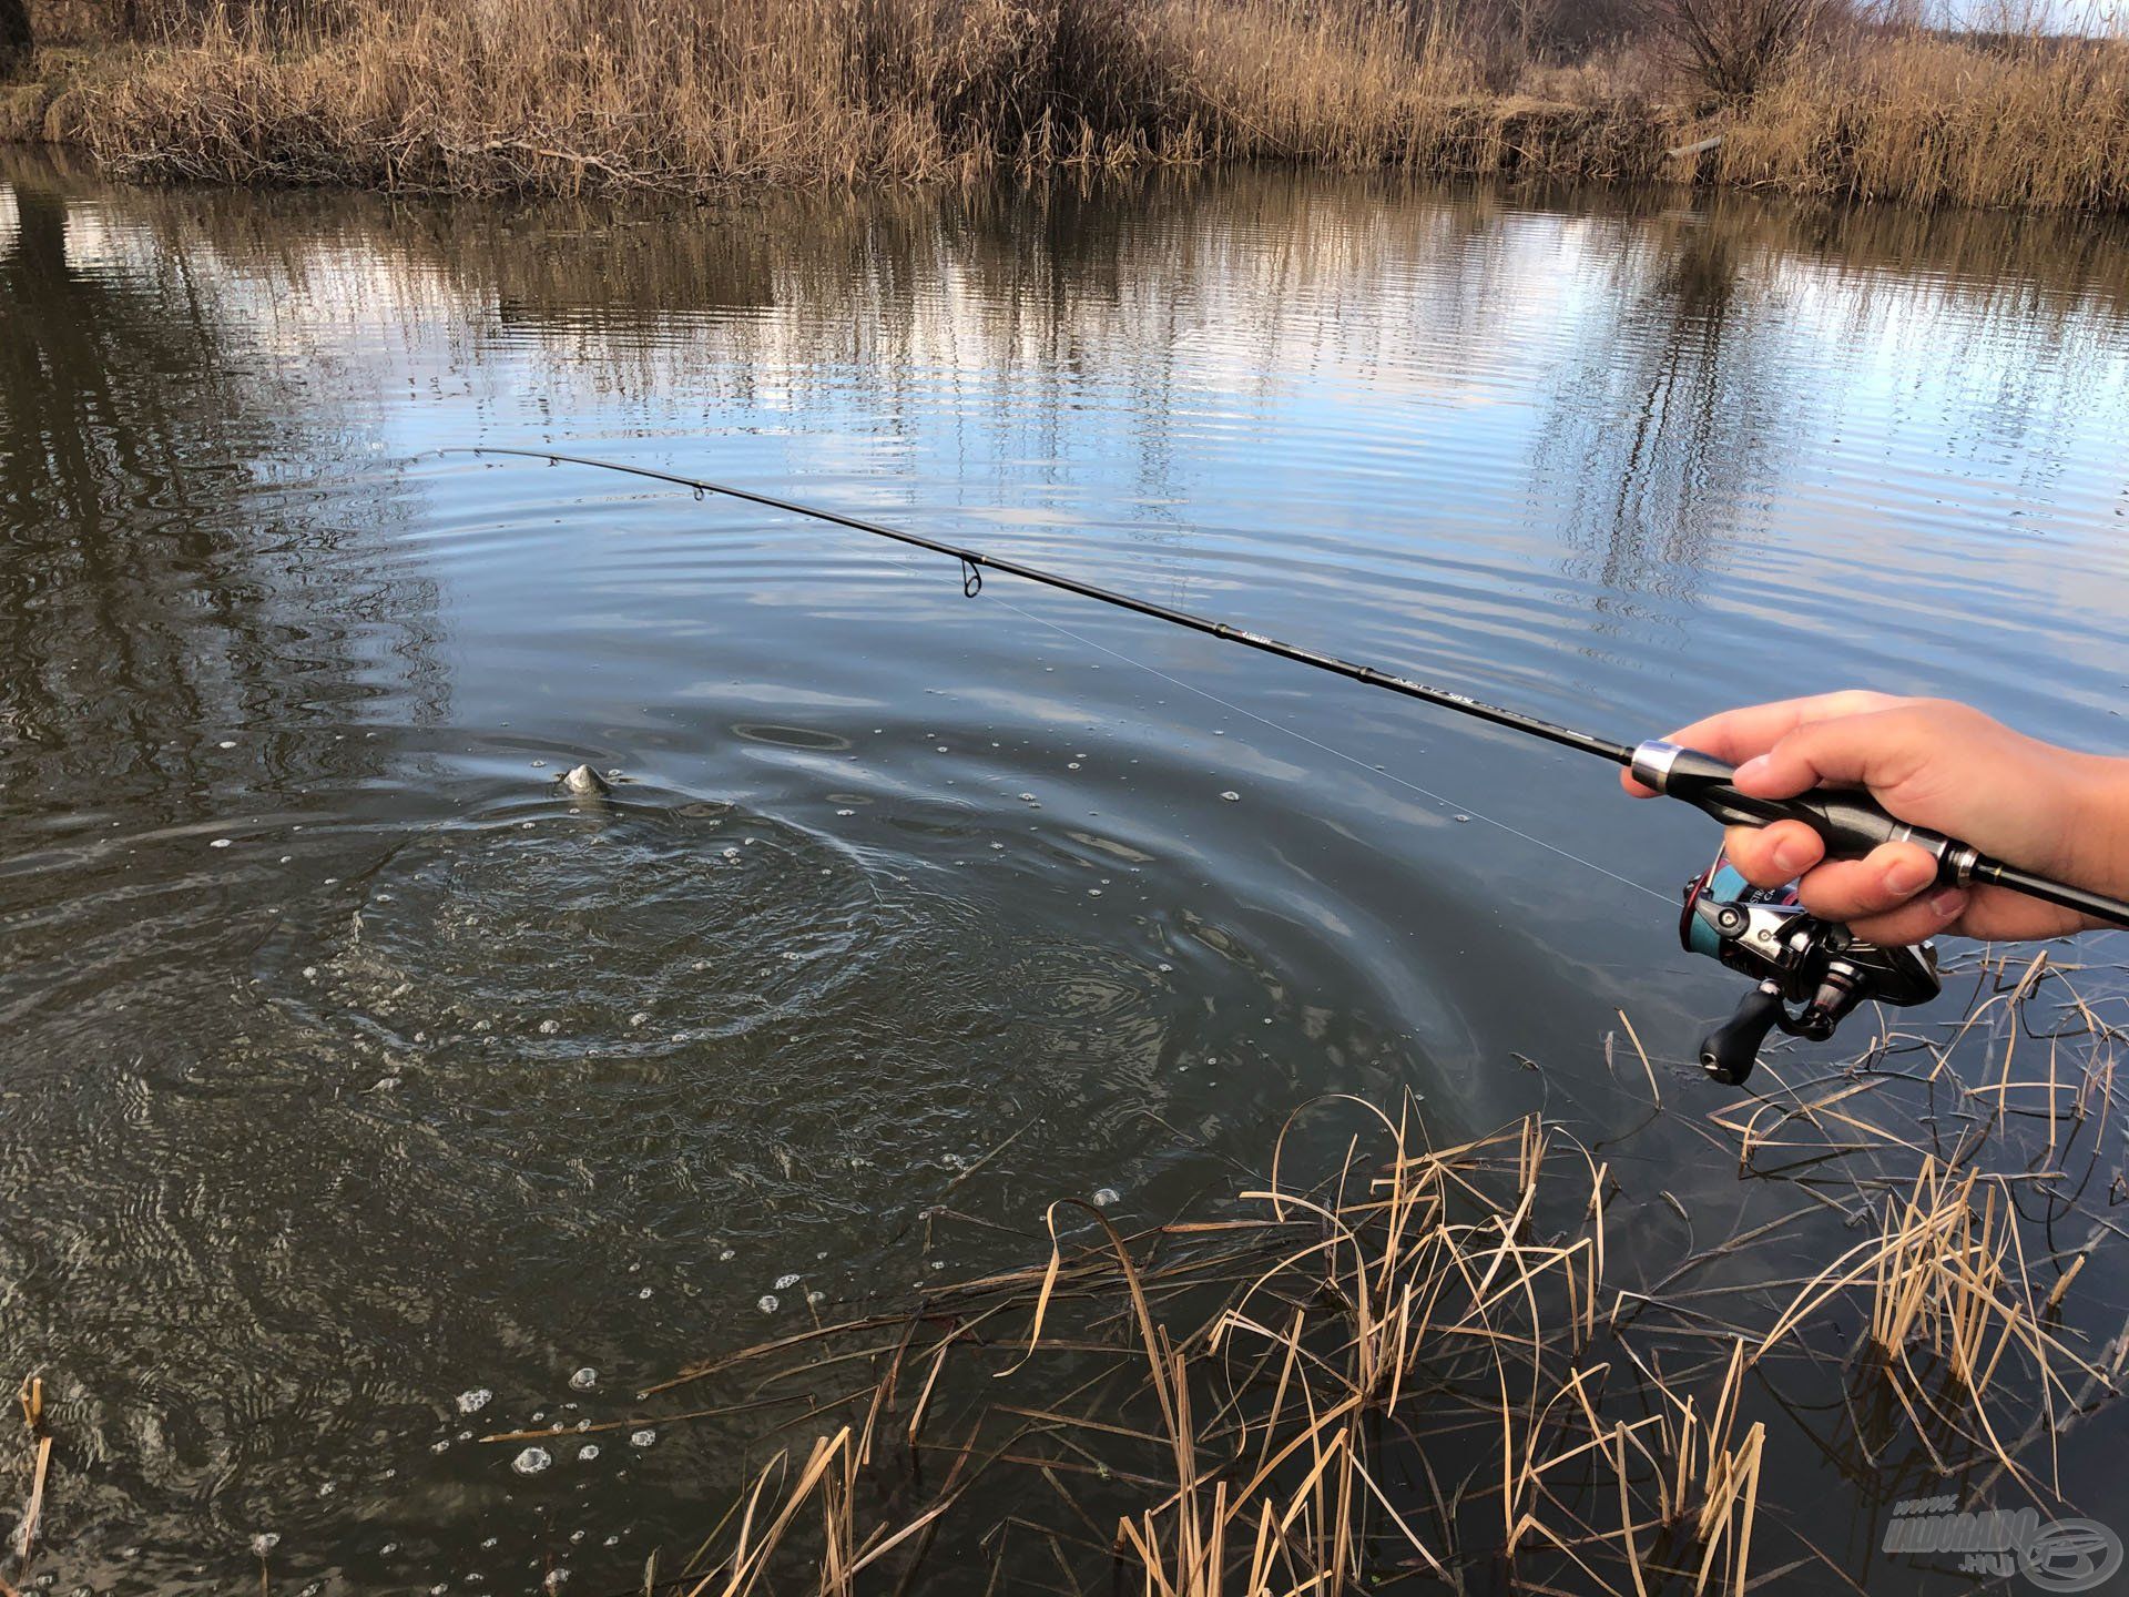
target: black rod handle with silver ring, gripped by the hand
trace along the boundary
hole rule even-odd
[[[1927,826],[1910,826],[1861,788],[1814,788],[1795,798],[1754,798],[1748,792],[1737,792],[1731,781],[1737,767],[1714,754],[1661,739],[1641,743],[1627,769],[1644,788],[1684,798],[1724,826],[1771,826],[1778,820],[1801,820],[1818,833],[1827,845],[1827,858],[1833,860],[1859,860],[1880,843],[1916,843],[1935,856],[1940,886],[1963,888],[1980,882],[2076,909],[2080,916],[2103,920],[2110,926],[2129,926],[2129,903],[2065,882],[2050,882],[2044,875],[2020,871],[2016,865],[1993,860],[1957,837],[1933,833]]]

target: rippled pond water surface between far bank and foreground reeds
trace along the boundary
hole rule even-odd
[[[1869,684],[2129,747],[2118,228],[1292,175],[628,213],[0,160],[0,1378],[55,1407],[55,1591],[255,1588],[258,1533],[277,1593],[626,1591],[709,1531],[743,1422],[539,1478],[471,1437],[632,1414],[807,1293],[1039,1263],[1056,1197],[1233,1190],[1318,1092],[1622,1133],[1618,1009],[1727,1101],[1686,1060],[1739,984],[1676,945],[1714,830],[1607,769],[439,447],[841,507],[1622,739]],[[613,809],[556,792],[579,760]],[[1703,1139],[1618,1160],[1652,1267],[1658,1190],[1746,1212]],[[994,1229],[926,1248],[950,1190]],[[1931,1486],[1812,1420],[1769,1442],[1788,1510],[1869,1591],[1927,1584],[1869,1546]],[[2063,1442],[2120,1529],[2125,1444]]]

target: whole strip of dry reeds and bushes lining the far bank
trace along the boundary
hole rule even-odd
[[[17,70],[38,38],[0,136],[402,192],[1275,160],[2129,204],[2129,43],[1854,4],[0,0]]]

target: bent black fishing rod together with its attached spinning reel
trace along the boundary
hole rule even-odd
[[[613,471],[626,477],[686,488],[698,500],[717,494],[771,511],[783,511],[786,515],[843,526],[852,532],[869,532],[877,539],[890,539],[913,549],[958,560],[962,592],[969,598],[975,598],[984,590],[986,571],[1020,577],[1041,588],[1056,588],[1099,605],[1133,611],[1135,615],[1182,626],[1190,632],[1203,632],[1222,643],[1239,643],[1260,654],[1328,671],[1369,688],[1384,688],[1405,698],[1418,698],[1458,715],[1471,715],[1512,732],[1522,732],[1524,737],[1578,750],[1580,754],[1595,754],[1601,760],[1624,767],[1644,788],[1680,798],[1722,826],[1771,826],[1778,820],[1799,820],[1818,833],[1827,858],[1837,860],[1861,858],[1882,843],[1916,843],[1935,860],[1937,884],[1942,886],[1963,888],[1978,884],[2008,888],[2029,899],[2074,909],[2110,926],[2129,928],[2129,903],[1991,858],[1957,837],[1910,826],[1859,788],[1816,788],[1795,798],[1761,798],[1739,792],[1731,781],[1735,767],[1701,750],[1680,747],[1663,739],[1631,745],[1618,743],[1516,709],[1488,705],[1450,688],[1437,688],[1380,671],[1371,664],[1341,660],[1335,654],[1284,643],[1262,632],[1233,626],[1231,622],[1211,620],[1171,605],[1156,605],[1137,594],[1099,588],[1064,573],[1043,571],[1018,560],[1001,560],[981,549],[967,549],[958,543],[945,543],[905,528],[867,522],[843,511],[758,494],[752,488],[732,488],[730,483],[683,477],[651,466],[571,456],[554,449],[481,445],[441,449],[439,454],[515,456],[522,460],[545,460],[547,464]],[[1680,941],[1686,950],[1710,954],[1759,982],[1737,1016],[1710,1033],[1701,1043],[1703,1069],[1716,1080],[1731,1084],[1744,1082],[1761,1041],[1773,1026],[1795,1037],[1825,1039],[1833,1035],[1833,1028],[1848,1011],[1867,999],[1908,1005],[1925,1003],[1940,990],[1935,950],[1929,943],[1920,948],[1865,943],[1846,926],[1808,913],[1797,901],[1795,888],[1767,890],[1750,886],[1720,854],[1714,865],[1686,884]]]

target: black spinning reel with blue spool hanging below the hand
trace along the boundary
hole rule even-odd
[[[1776,1026],[1825,1041],[1861,1003],[1929,1003],[1942,986],[1935,943],[1865,943],[1818,920],[1793,886],[1754,888],[1724,854],[1686,884],[1678,941],[1759,982],[1737,1014],[1701,1039],[1701,1069],[1729,1086],[1752,1073]]]

